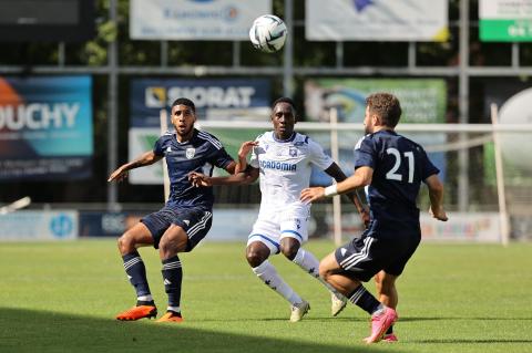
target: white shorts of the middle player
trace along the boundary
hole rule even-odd
[[[294,238],[299,243],[308,240],[309,207],[288,207],[275,211],[260,211],[253,225],[247,245],[260,241],[275,255],[280,251],[280,239]]]

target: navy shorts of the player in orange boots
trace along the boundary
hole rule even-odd
[[[164,206],[161,210],[142,218],[141,221],[150,229],[155,249],[158,249],[158,242],[166,229],[171,225],[176,225],[188,236],[185,251],[191,251],[211,229],[213,214],[197,207]]]

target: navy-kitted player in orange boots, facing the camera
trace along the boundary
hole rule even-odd
[[[212,175],[216,166],[234,173],[236,163],[213,135],[194,128],[194,103],[177,98],[172,104],[172,125],[156,142],[153,150],[114,170],[108,181],[122,180],[133,168],[152,165],[166,157],[171,191],[166,205],[158,211],[142,218],[119,239],[119,250],[124,269],[136,291],[136,305],[116,315],[117,320],[155,318],[157,309],[146,279],[146,269],[139,247],[158,249],[163,262],[164,289],[168,294],[166,313],[158,322],[181,322],[181,284],[183,271],[178,252],[191,251],[206,236],[212,225],[213,190],[196,188],[188,180],[188,173]]]

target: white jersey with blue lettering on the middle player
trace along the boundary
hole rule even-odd
[[[313,164],[325,170],[332,159],[308,136],[294,133],[290,138],[279,141],[274,132],[256,139],[249,164],[260,172],[260,211],[279,210],[291,204],[304,206],[299,195],[310,183]]]

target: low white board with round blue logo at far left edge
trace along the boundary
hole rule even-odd
[[[0,240],[60,240],[78,238],[78,211],[21,210],[0,216]]]

